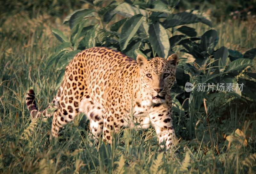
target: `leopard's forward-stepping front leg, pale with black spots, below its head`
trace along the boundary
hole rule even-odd
[[[158,111],[149,114],[151,124],[156,129],[159,144],[165,142],[166,149],[170,149],[176,140],[172,125],[172,110],[169,108],[159,108]],[[160,146],[164,148],[164,145]]]

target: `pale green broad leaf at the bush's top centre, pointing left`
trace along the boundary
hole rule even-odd
[[[130,5],[128,3],[122,3],[122,4],[118,5],[116,7],[115,11],[117,14],[124,16],[124,17],[132,17],[136,14],[142,14],[144,16],[146,15],[145,10],[133,7],[132,5]]]

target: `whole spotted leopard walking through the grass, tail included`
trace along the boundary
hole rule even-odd
[[[172,124],[171,88],[178,54],[136,59],[108,47],[85,49],[68,63],[62,83],[50,105],[38,111],[35,92],[26,95],[33,119],[52,117],[51,136],[84,113],[94,139],[112,143],[122,128],[155,129],[161,148],[170,149],[176,140]]]

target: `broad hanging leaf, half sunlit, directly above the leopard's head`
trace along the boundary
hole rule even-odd
[[[169,37],[165,28],[159,24],[149,25],[149,42],[158,56],[167,58],[170,49]]]

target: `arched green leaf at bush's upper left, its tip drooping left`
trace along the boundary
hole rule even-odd
[[[72,29],[75,25],[77,25],[86,15],[92,13],[93,9],[82,9],[79,11],[76,11],[71,15],[69,18],[69,27]]]

